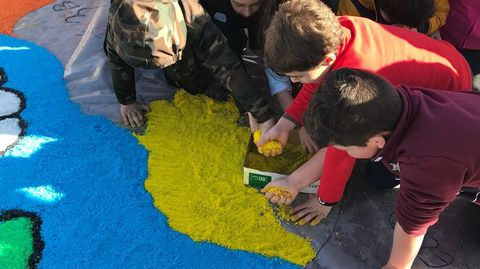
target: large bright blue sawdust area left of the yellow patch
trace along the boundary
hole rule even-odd
[[[146,150],[69,101],[63,67],[47,50],[0,35],[0,67],[4,87],[26,97],[26,136],[41,139],[14,148],[27,155],[0,157],[0,210],[41,217],[40,268],[298,268],[171,230],[144,188]]]

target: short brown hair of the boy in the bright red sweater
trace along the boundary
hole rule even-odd
[[[274,71],[308,71],[337,51],[342,27],[320,0],[290,0],[280,5],[265,33],[265,62]]]

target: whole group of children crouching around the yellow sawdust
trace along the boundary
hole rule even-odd
[[[259,146],[285,145],[297,129],[314,155],[265,189],[272,203],[289,204],[320,178],[317,196],[294,207],[292,220],[325,218],[356,159],[370,160],[367,177],[399,178],[385,268],[410,268],[448,204],[457,196],[477,202],[480,193],[480,95],[472,92],[480,6],[465,1],[112,0],[105,51],[127,125],[143,124],[146,109],[136,101],[134,68],[164,68],[170,83],[192,94],[231,92],[252,131],[261,129]],[[449,10],[468,5],[477,16],[461,22],[473,25],[464,40],[451,41],[456,47],[438,40],[451,34]],[[335,7],[338,15],[367,18],[336,16]],[[263,57],[272,95],[285,109],[276,123],[274,105],[241,61],[247,43]],[[295,98],[289,80],[303,84]]]

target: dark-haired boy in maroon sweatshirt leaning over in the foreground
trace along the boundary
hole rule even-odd
[[[479,114],[479,94],[395,88],[358,69],[331,72],[314,94],[304,120],[319,145],[382,162],[400,178],[384,268],[410,268],[428,227],[457,196],[480,205]]]

